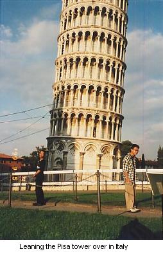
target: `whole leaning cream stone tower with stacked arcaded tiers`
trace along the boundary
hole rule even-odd
[[[48,169],[117,169],[128,0],[62,0]]]

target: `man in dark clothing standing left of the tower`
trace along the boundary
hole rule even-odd
[[[44,181],[44,169],[46,165],[46,161],[44,160],[44,155],[45,155],[44,151],[39,152],[40,161],[38,161],[37,171],[33,175],[33,177],[36,178],[35,192],[36,192],[36,198],[37,198],[37,202],[33,203],[34,206],[46,205],[45,199],[44,199],[44,192],[42,190],[42,183]]]

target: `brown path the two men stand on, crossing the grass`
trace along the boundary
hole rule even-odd
[[[51,203],[47,202],[44,206],[33,206],[33,201],[12,201],[13,208],[26,208],[26,209],[38,209],[38,210],[56,210],[67,212],[87,212],[98,213],[98,206],[96,205],[84,205],[78,203]],[[8,201],[0,201],[0,206],[8,206]],[[141,208],[141,212],[130,213],[126,212],[126,208],[123,206],[101,206],[101,214],[108,215],[125,215],[130,217],[162,217],[162,210],[158,208]]]

